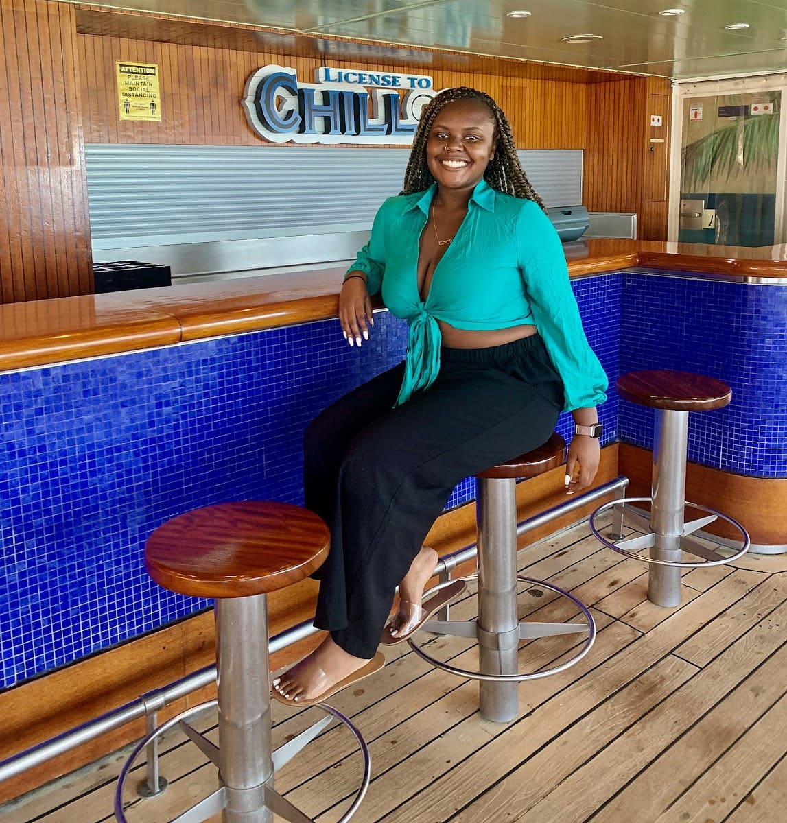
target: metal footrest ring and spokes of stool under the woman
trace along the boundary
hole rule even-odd
[[[471,575],[463,579],[475,579],[476,575]],[[458,666],[452,666],[450,663],[444,663],[427,654],[420,646],[415,644],[412,638],[407,639],[410,648],[427,663],[431,663],[444,672],[458,675],[459,677],[468,677],[471,680],[491,681],[497,683],[522,683],[529,680],[538,680],[541,677],[549,677],[558,672],[565,672],[567,668],[579,663],[582,658],[590,651],[590,647],[594,644],[596,639],[596,624],[593,615],[590,614],[589,609],[580,602],[573,595],[566,592],[562,588],[545,583],[543,580],[537,580],[532,577],[524,577],[517,575],[517,579],[522,583],[529,583],[531,585],[542,586],[549,589],[549,591],[556,593],[560,597],[566,597],[570,602],[574,603],[575,607],[582,612],[585,623],[536,623],[536,622],[522,622],[519,623],[519,639],[538,639],[541,637],[552,637],[555,635],[574,634],[581,631],[588,632],[588,637],[585,639],[579,653],[574,657],[561,663],[559,666],[554,666],[549,669],[544,669],[541,672],[529,672],[526,674],[487,674],[485,672],[473,672],[468,669],[463,669]],[[436,588],[436,587],[435,587]],[[430,589],[424,593],[424,597],[431,596],[435,589]],[[432,625],[435,629],[432,629]],[[455,629],[454,629],[455,627]],[[430,631],[432,634],[439,635],[455,635],[458,637],[477,637],[478,625],[477,621],[428,621],[423,625],[423,628]]]

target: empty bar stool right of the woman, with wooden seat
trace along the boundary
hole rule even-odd
[[[715,509],[687,503],[686,462],[689,412],[703,412],[727,406],[732,389],[723,380],[703,374],[654,370],[622,374],[617,393],[624,400],[655,409],[653,472],[650,497],[629,497],[603,504],[590,515],[590,530],[604,546],[650,564],[648,599],[658,606],[673,607],[681,602],[681,570],[697,566],[723,565],[742,556],[750,545],[746,529],[733,518]],[[650,503],[650,513],[632,504]],[[705,516],[685,522],[685,507],[700,509]],[[596,520],[608,509],[617,515],[612,542],[599,532]],[[702,545],[689,537],[693,532],[722,518],[741,533],[743,545],[731,556]],[[615,542],[622,537],[622,521],[645,534]],[[650,550],[650,556],[639,552]],[[685,551],[702,560],[682,560]]]

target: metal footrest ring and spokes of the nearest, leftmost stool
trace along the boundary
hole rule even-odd
[[[191,739],[200,749],[203,751],[203,754],[207,756],[210,760],[215,762],[215,755],[218,753],[218,748],[207,740],[207,738],[203,737],[199,732],[194,730],[188,723],[185,721],[189,720],[189,718],[194,717],[197,714],[202,714],[203,712],[208,711],[209,709],[216,709],[218,705],[218,700],[208,700],[207,703],[201,703],[198,706],[193,706],[190,709],[186,709],[185,711],[181,712],[180,714],[175,715],[174,718],[170,718],[166,721],[166,723],[162,723],[161,726],[158,728],[153,729],[153,731],[147,735],[147,737],[143,737],[140,742],[137,743],[137,746],[134,746],[134,749],[131,755],[128,757],[128,760],[123,764],[123,769],[120,770],[119,778],[118,778],[118,785],[115,788],[114,792],[114,816],[115,820],[119,821],[119,823],[128,823],[128,819],[125,816],[125,812],[123,811],[123,788],[126,783],[126,779],[128,779],[128,774],[133,769],[133,765],[137,761],[137,757],[140,755],[143,749],[147,748],[148,744],[151,743],[156,737],[161,737],[162,734],[165,732],[170,731],[170,729],[179,727],[188,737]],[[309,707],[310,709],[322,709],[326,712],[329,716],[328,718],[323,718],[319,720],[317,723],[314,723],[313,726],[306,729],[305,732],[301,732],[297,737],[294,737],[291,741],[284,743],[282,746],[279,746],[276,751],[272,752],[272,761],[274,771],[278,770],[288,763],[296,754],[301,751],[308,743],[314,740],[314,737],[319,735],[319,732],[322,732],[324,728],[327,728],[328,725],[331,723],[332,718],[335,718],[339,721],[339,723],[343,723],[347,728],[352,732],[353,736],[356,738],[356,742],[361,750],[361,756],[363,757],[364,766],[363,766],[363,778],[361,779],[361,788],[358,789],[356,793],[356,797],[352,802],[352,805],[347,809],[347,811],[339,818],[337,823],[347,823],[350,818],[356,813],[358,807],[361,805],[361,801],[366,796],[366,791],[369,788],[369,783],[371,780],[371,759],[369,754],[369,746],[366,745],[366,741],[361,737],[361,732],[358,731],[354,723],[345,717],[341,712],[337,709],[334,709],[333,706],[329,706],[325,703],[317,703],[313,706]],[[193,734],[192,734],[193,732]],[[199,738],[199,739],[195,739]],[[215,750],[215,751],[214,751]],[[311,818],[306,816],[300,809],[294,807],[291,802],[286,800],[286,798],[282,797],[278,794],[272,786],[268,786],[266,783],[263,787],[263,797],[265,799],[265,806],[268,807],[271,811],[273,811],[278,816],[283,817],[285,820],[293,821],[293,823],[300,823],[300,821],[309,821],[312,823]],[[255,789],[256,791],[256,789]],[[183,814],[179,815],[175,818],[175,821],[188,821],[188,823],[200,823],[200,821],[206,821],[209,817],[217,815],[221,812],[221,810],[226,805],[226,787],[222,786],[218,788],[216,791],[209,794],[207,797],[204,797],[202,800],[197,802],[193,807],[189,808],[187,811],[184,811]],[[172,823],[175,823],[172,821]]]

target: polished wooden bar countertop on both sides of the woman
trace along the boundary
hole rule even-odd
[[[571,277],[635,266],[785,278],[787,245],[729,248],[591,239],[566,244]],[[343,267],[0,305],[0,371],[336,316]]]

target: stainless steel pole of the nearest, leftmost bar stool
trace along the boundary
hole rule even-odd
[[[219,774],[224,823],[272,823],[268,596],[216,601]]]

